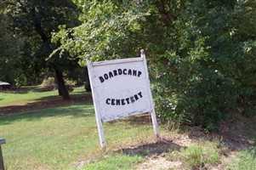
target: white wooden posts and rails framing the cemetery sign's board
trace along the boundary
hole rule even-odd
[[[155,105],[152,99],[152,94],[151,94],[151,85],[150,85],[150,79],[149,79],[149,74],[148,74],[148,69],[147,69],[147,64],[146,64],[146,59],[145,59],[145,51],[143,49],[140,50],[140,57],[138,58],[128,58],[128,59],[113,59],[113,60],[106,60],[106,61],[98,61],[98,62],[92,62],[90,60],[90,55],[87,55],[86,58],[87,61],[87,66],[88,66],[88,76],[90,80],[90,86],[92,89],[92,95],[93,95],[93,100],[94,100],[94,111],[95,111],[95,116],[96,116],[96,122],[97,122],[97,127],[98,127],[98,133],[100,136],[100,145],[102,148],[105,148],[105,138],[104,138],[104,131],[103,131],[103,125],[102,122],[108,122],[111,120],[116,120],[125,116],[134,116],[146,112],[151,112],[151,120],[152,120],[152,125],[154,129],[154,133],[156,134],[156,137],[158,137],[158,129],[157,129],[157,122],[156,122],[156,112],[155,112]],[[100,105],[98,102],[99,94],[96,93],[96,86],[94,82],[94,67],[97,66],[104,66],[104,65],[118,65],[118,64],[125,64],[125,63],[132,63],[132,62],[142,62],[143,65],[143,71],[145,73],[145,88],[147,89],[147,94],[148,94],[148,99],[150,103],[150,108],[143,109],[141,111],[135,111],[135,112],[129,112],[126,114],[123,114],[123,116],[116,116],[116,117],[102,117],[100,115]]]

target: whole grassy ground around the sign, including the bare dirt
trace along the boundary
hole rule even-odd
[[[76,88],[70,102],[58,105],[62,100],[57,91],[34,87],[0,92],[0,111],[15,108],[15,113],[0,116],[6,169],[256,169],[256,120],[237,122],[236,127],[245,127],[239,135],[230,131],[212,139],[201,130],[193,133],[193,128],[168,130],[170,123],[159,126],[162,140],[156,142],[151,116],[132,116],[103,123],[107,147],[102,150],[93,103],[82,96],[90,94]],[[41,103],[45,106],[32,107],[34,111],[17,110]]]

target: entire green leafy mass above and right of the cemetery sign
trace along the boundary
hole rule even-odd
[[[127,58],[144,48],[163,122],[212,131],[235,108],[253,108],[254,1],[74,2],[82,24],[59,27],[53,41],[62,45],[54,53],[68,51],[84,65],[86,54]]]

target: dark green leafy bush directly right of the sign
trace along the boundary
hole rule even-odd
[[[194,1],[185,8],[174,23],[183,41],[175,41],[178,50],[165,52],[168,65],[156,65],[156,104],[163,121],[190,122],[211,131],[239,99],[255,94],[255,31],[236,35],[242,31],[241,16],[252,11],[241,2]]]

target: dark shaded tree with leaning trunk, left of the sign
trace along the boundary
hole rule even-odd
[[[60,25],[76,26],[78,23],[77,6],[69,0],[61,1],[13,1],[5,0],[8,5],[7,11],[12,19],[10,27],[15,35],[26,37],[26,44],[30,46],[31,51],[27,51],[31,59],[26,60],[25,65],[31,68],[31,71],[40,72],[48,68],[53,70],[57,79],[59,94],[63,99],[69,99],[69,94],[65,88],[63,71],[73,68],[77,60],[68,59],[68,54],[60,59],[58,54],[48,59],[58,43],[51,42],[52,32],[58,31]],[[77,65],[78,66],[78,65]]]

